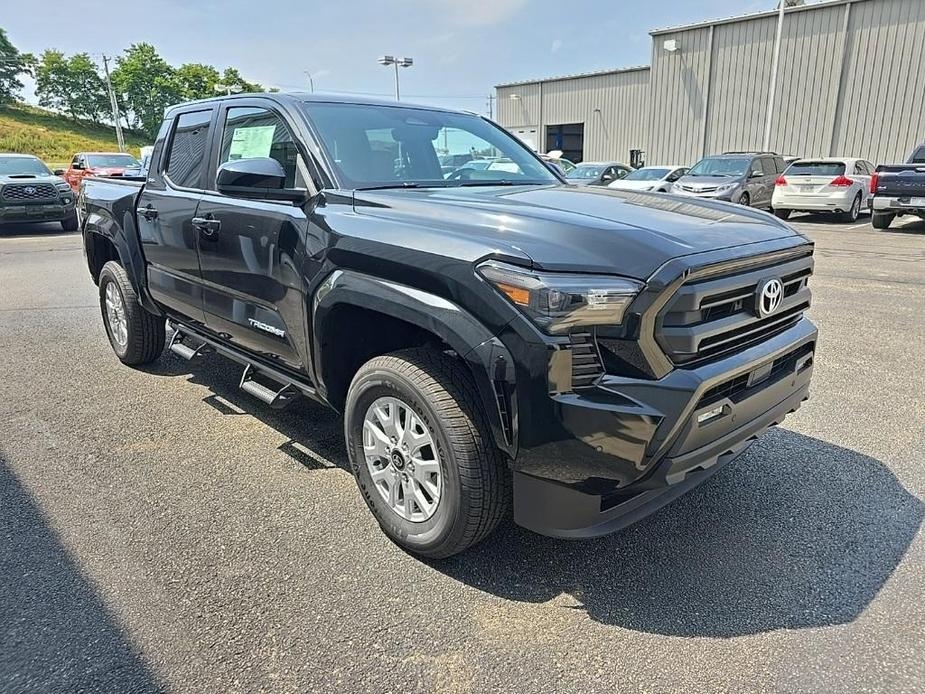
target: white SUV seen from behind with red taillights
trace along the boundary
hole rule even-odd
[[[854,222],[867,206],[875,168],[866,159],[797,159],[778,176],[771,207],[781,219],[791,212],[834,212]]]

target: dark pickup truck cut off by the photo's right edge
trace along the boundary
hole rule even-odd
[[[925,144],[905,164],[881,164],[870,179],[870,223],[887,229],[896,217],[925,219]]]

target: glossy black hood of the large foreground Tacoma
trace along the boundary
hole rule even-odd
[[[492,253],[538,269],[648,278],[668,260],[804,237],[758,210],[663,193],[572,186],[357,191],[360,215],[386,218],[409,248],[450,244],[472,260]],[[445,252],[445,251],[444,251]]]

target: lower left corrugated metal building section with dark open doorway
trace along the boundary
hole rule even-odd
[[[498,115],[505,127],[584,124],[584,159],[629,161],[630,149],[648,141],[649,69],[553,80],[498,89]],[[511,99],[515,94],[519,98]],[[517,122],[520,119],[521,122]],[[527,122],[526,119],[533,119]],[[538,132],[545,151],[545,132]]]

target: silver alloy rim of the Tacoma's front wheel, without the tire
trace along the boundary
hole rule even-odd
[[[382,397],[363,418],[366,467],[379,496],[399,516],[426,521],[437,510],[443,473],[427,426],[406,403]]]

